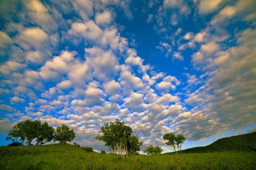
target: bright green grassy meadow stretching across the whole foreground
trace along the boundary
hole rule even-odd
[[[255,152],[188,153],[156,156],[120,156],[85,152],[80,147],[59,144],[38,146],[27,153],[21,147],[0,147],[0,169],[13,170],[172,170],[256,169]]]

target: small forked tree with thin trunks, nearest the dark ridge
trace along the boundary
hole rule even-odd
[[[169,146],[168,149],[172,149],[175,153],[180,150],[181,153],[181,145],[186,139],[183,135],[176,137],[173,133],[166,133],[163,138],[167,141],[165,144]]]

